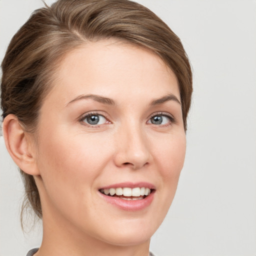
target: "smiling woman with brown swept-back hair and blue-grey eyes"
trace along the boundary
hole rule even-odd
[[[36,10],[2,62],[7,150],[43,239],[28,255],[148,255],[185,155],[191,69],[127,0]]]

